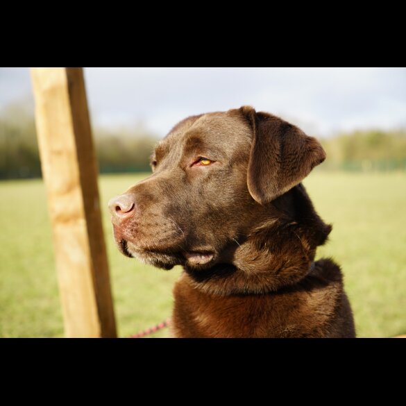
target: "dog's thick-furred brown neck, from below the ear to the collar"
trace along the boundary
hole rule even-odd
[[[210,294],[267,294],[303,280],[331,226],[316,214],[302,185],[273,203],[281,205],[289,212],[254,229],[224,262],[205,270],[185,267],[192,285]]]

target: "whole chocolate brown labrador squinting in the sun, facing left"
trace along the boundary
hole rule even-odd
[[[339,266],[314,262],[331,226],[301,180],[324,159],[313,137],[243,106],[180,121],[153,174],[112,198],[124,255],[184,267],[174,337],[355,337]]]

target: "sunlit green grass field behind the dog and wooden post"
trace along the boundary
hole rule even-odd
[[[142,176],[101,176],[103,209]],[[344,271],[359,337],[406,333],[406,175],[314,172],[305,180],[334,228],[317,257]],[[41,180],[0,183],[0,337],[63,337],[51,226]],[[166,319],[180,268],[162,271],[121,255],[103,210],[119,336]],[[155,334],[164,337],[167,330]]]

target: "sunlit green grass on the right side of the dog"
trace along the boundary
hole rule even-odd
[[[321,217],[333,224],[318,256],[341,264],[357,334],[405,334],[405,174],[319,172],[305,186]]]

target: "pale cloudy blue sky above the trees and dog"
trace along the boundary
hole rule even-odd
[[[406,127],[406,68],[85,68],[93,124],[163,136],[201,112],[253,105],[307,133]],[[27,68],[0,68],[0,110],[32,101]]]

